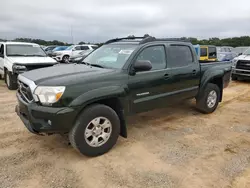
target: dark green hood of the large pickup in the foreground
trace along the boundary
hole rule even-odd
[[[48,68],[36,69],[22,75],[37,85],[58,86],[83,83],[88,80],[100,79],[102,76],[114,72],[113,69],[91,67],[83,64],[58,64]]]

